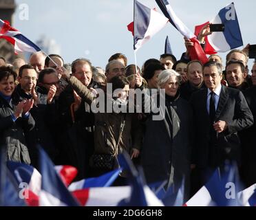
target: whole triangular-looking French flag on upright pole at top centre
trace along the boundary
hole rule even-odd
[[[134,50],[142,47],[153,35],[164,28],[167,22],[168,19],[162,14],[135,0],[134,22],[127,25],[128,30],[134,35]]]

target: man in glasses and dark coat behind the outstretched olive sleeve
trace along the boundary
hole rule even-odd
[[[92,85],[92,63],[86,58],[76,59],[72,62],[72,76],[89,88]],[[59,111],[63,122],[60,141],[64,149],[60,152],[60,161],[75,166],[78,169],[76,179],[84,179],[89,175],[89,156],[94,150],[94,114],[70,85],[59,98]]]

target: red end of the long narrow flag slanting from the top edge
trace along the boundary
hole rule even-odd
[[[209,61],[209,59],[207,58],[204,50],[202,50],[202,47],[200,45],[200,42],[198,41],[198,39],[196,39],[195,37],[193,37],[193,39],[190,39],[191,42],[194,43],[194,46],[190,48],[189,50],[189,54],[191,57],[191,60],[198,60],[201,61],[202,64],[206,63]]]

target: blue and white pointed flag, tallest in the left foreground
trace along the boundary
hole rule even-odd
[[[39,194],[40,206],[78,206],[78,202],[63,184],[54,164],[42,148],[39,148],[42,186]]]

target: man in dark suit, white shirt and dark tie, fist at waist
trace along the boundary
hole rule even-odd
[[[191,97],[196,129],[193,160],[200,171],[201,186],[215,168],[222,170],[226,160],[239,164],[237,132],[253,125],[253,115],[242,92],[221,84],[220,63],[204,64],[203,78],[206,89]]]

